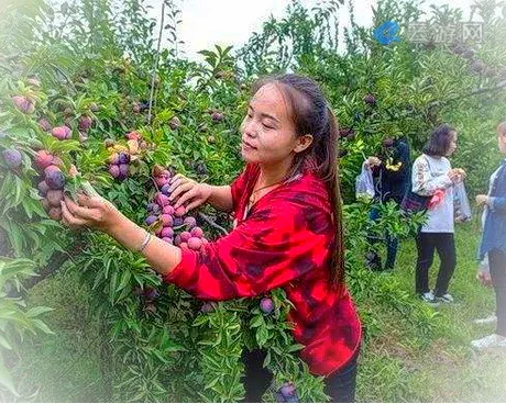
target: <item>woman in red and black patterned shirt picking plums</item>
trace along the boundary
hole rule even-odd
[[[283,288],[301,358],[326,377],[332,401],[351,402],[361,325],[344,287],[336,117],[314,80],[284,75],[257,83],[241,134],[246,166],[231,186],[173,179],[176,205],[208,202],[234,214],[234,229],[201,251],[150,238],[101,198],[66,199],[64,221],[101,229],[127,248],[142,246],[166,282],[202,300]],[[271,381],[258,355],[245,355],[246,401],[261,401]]]

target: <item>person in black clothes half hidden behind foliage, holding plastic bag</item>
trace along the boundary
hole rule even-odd
[[[409,145],[405,137],[387,137],[383,141],[383,148],[380,157],[370,157],[364,162],[372,172],[375,183],[374,201],[384,203],[395,201],[398,205],[410,184],[410,158]],[[373,207],[370,213],[372,221],[380,218],[380,210]],[[386,261],[382,267],[382,260],[376,251],[367,252],[369,267],[372,270],[392,270],[397,256],[398,239],[389,234],[386,238]],[[369,237],[369,243],[374,245],[377,242]]]

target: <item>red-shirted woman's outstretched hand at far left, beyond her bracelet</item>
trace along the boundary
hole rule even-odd
[[[62,221],[70,227],[90,227],[108,233],[119,211],[101,197],[80,194],[77,202],[65,197],[62,201]]]

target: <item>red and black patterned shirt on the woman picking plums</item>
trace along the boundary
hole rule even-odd
[[[348,291],[330,287],[334,227],[326,184],[307,169],[266,193],[244,218],[258,173],[250,164],[231,186],[235,228],[201,251],[184,249],[165,281],[212,301],[283,288],[295,306],[287,319],[305,345],[301,358],[314,374],[329,375],[356,352],[361,324]]]

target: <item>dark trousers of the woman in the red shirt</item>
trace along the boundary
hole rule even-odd
[[[246,391],[244,403],[261,403],[262,396],[271,385],[272,373],[263,368],[266,354],[255,349],[242,355],[245,372],[243,378]],[[324,393],[331,403],[353,403],[355,401],[356,355],[342,369],[324,380]]]

